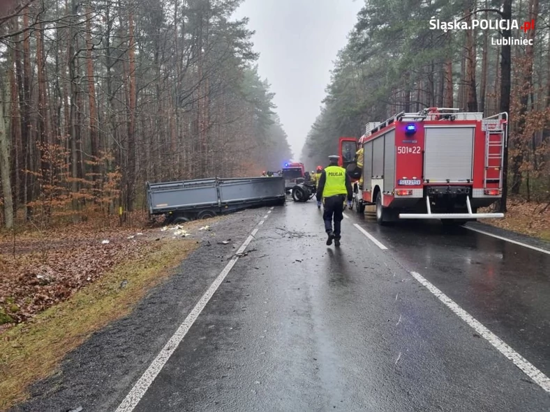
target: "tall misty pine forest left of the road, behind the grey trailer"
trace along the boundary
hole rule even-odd
[[[290,158],[240,3],[35,0],[0,16],[0,226],[133,211],[146,181]]]

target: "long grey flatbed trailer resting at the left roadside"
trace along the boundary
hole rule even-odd
[[[285,204],[285,179],[209,178],[168,183],[147,182],[149,215],[167,224],[214,218],[245,208]]]

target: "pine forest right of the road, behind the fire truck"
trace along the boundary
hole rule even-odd
[[[509,112],[507,188],[550,201],[549,15],[548,0],[367,0],[339,52],[302,159],[308,167],[325,165],[340,136],[360,137],[369,121],[401,111]],[[431,29],[431,19],[468,26],[516,20],[519,27],[443,31]],[[534,29],[523,31],[531,20]],[[498,44],[510,37],[533,45]]]

